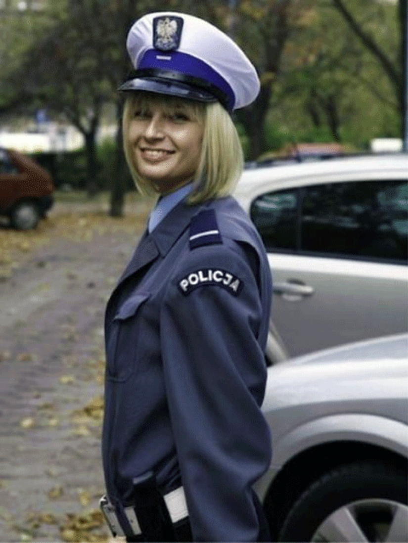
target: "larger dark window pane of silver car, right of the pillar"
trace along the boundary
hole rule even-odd
[[[356,181],[302,189],[302,251],[404,261],[406,182]]]

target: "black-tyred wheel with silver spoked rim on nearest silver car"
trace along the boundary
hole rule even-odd
[[[408,541],[407,477],[376,462],[319,478],[287,514],[279,541]]]

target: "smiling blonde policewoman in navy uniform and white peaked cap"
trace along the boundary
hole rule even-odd
[[[271,460],[271,275],[230,196],[242,170],[230,113],[259,80],[190,15],[143,16],[127,47],[125,155],[159,198],[106,308],[101,506],[127,541],[267,541],[253,484]]]

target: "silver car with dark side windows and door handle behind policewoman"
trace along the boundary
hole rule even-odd
[[[289,356],[408,330],[408,154],[248,169],[235,196],[265,243]]]

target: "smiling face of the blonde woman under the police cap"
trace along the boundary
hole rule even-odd
[[[180,100],[135,100],[130,113],[128,143],[137,173],[161,194],[192,181],[204,132],[192,106]]]

